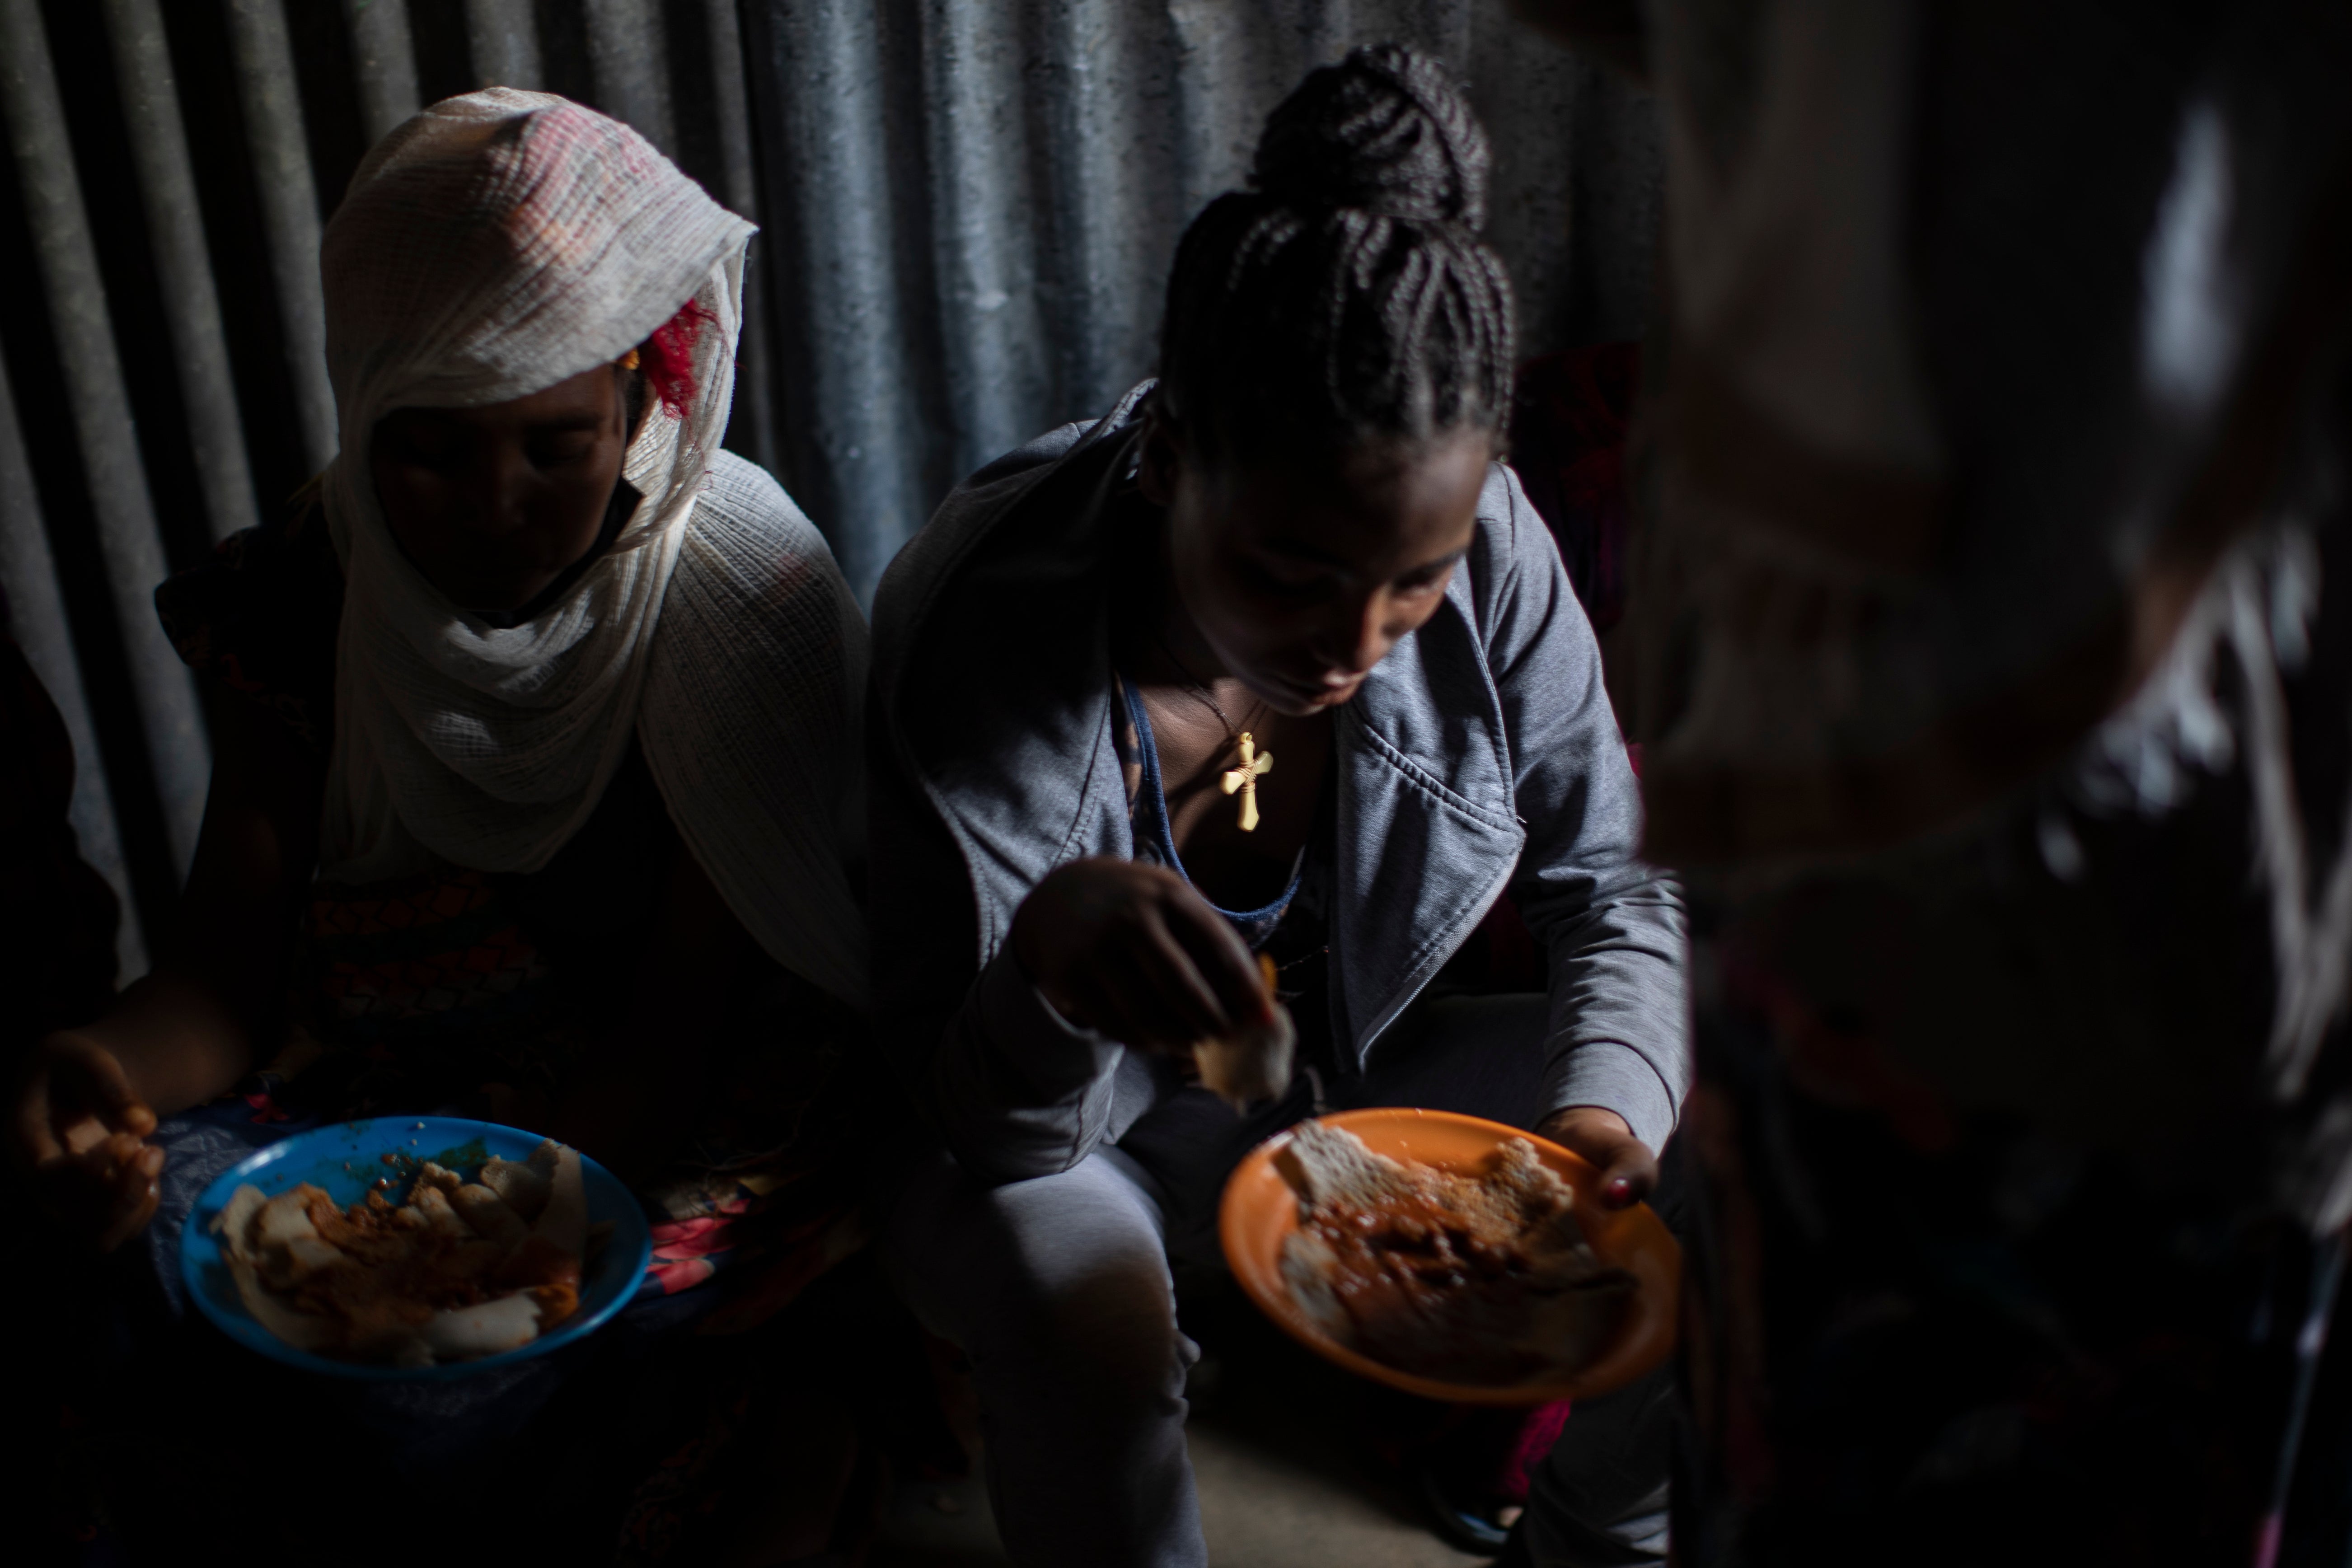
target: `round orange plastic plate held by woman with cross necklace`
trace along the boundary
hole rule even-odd
[[[1597,1173],[1576,1154],[1501,1121],[1456,1117],[1442,1110],[1350,1110],[1322,1117],[1322,1121],[1324,1126],[1355,1133],[1374,1154],[1437,1166],[1458,1175],[1484,1171],[1486,1157],[1503,1140],[1526,1138],[1536,1145],[1543,1164],[1576,1190],[1576,1220],[1585,1227],[1585,1241],[1606,1262],[1635,1276],[1635,1295],[1616,1340],[1595,1361],[1538,1373],[1529,1382],[1470,1387],[1381,1366],[1371,1356],[1357,1354],[1327,1335],[1291,1300],[1289,1286],[1282,1284],[1282,1241],[1298,1229],[1298,1197],[1282,1180],[1282,1173],[1275,1171],[1275,1154],[1291,1138],[1284,1131],[1251,1150],[1225,1182],[1218,1234],[1225,1244],[1225,1262],[1232,1267],[1235,1279],[1242,1281],[1242,1288],[1249,1291],[1249,1298],[1258,1302],[1258,1309],[1282,1324],[1291,1338],[1315,1354],[1406,1394],[1472,1406],[1534,1406],[1555,1399],[1595,1399],[1642,1378],[1672,1354],[1682,1248],[1649,1204],[1616,1211],[1599,1208],[1590,1197],[1597,1187]]]

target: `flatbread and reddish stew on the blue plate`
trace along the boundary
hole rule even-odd
[[[579,1309],[588,1197],[581,1157],[548,1140],[475,1182],[426,1161],[405,1204],[245,1185],[214,1232],[245,1309],[287,1345],[435,1366],[517,1349]]]

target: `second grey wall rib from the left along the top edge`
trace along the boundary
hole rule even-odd
[[[179,85],[172,80],[172,49],[158,0],[106,0],[106,33],[122,78],[122,118],[139,165],[155,280],[162,284],[172,362],[195,449],[195,482],[205,491],[212,536],[228,538],[259,520],[254,475],[245,461],[221,299],[212,289],[205,216],[195,200],[188,134],[179,120]]]

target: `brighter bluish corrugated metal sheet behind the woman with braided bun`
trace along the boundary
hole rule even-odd
[[[1635,336],[1649,106],[1498,0],[746,7],[779,440],[861,592],[955,475],[1150,371],[1183,223],[1301,73],[1383,38],[1470,80],[1526,343]]]

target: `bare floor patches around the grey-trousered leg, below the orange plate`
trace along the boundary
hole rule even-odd
[[[1291,1345],[1237,1293],[1185,1298],[1192,1474],[1214,1568],[1470,1568],[1421,1523],[1397,1455],[1442,1415]],[[1004,1563],[988,1490],[903,1483],[868,1568]]]

